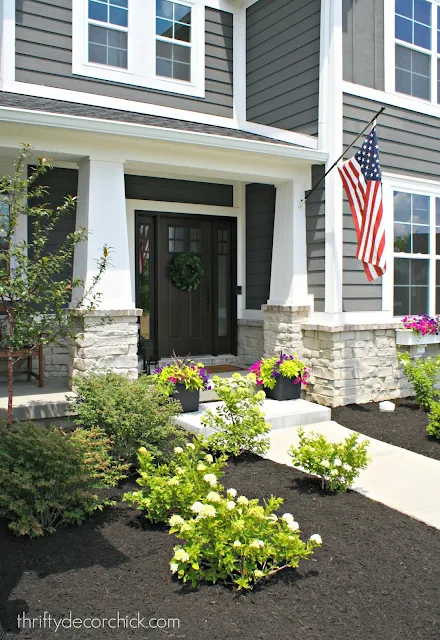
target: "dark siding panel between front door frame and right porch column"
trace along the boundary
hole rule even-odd
[[[276,189],[246,186],[246,308],[261,309],[270,294]]]

